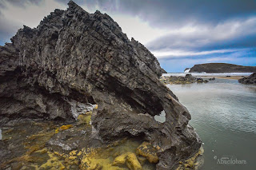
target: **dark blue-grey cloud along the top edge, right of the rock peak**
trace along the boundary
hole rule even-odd
[[[59,2],[67,2],[61,1]],[[180,26],[186,22],[216,24],[256,13],[255,0],[86,0],[85,6],[138,16],[153,26]]]

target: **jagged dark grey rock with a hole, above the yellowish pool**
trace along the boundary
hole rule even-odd
[[[158,60],[107,14],[69,2],[37,28],[24,26],[0,49],[0,117],[72,121],[98,104],[102,141],[138,136],[158,145],[157,169],[198,152],[190,113],[159,81]],[[159,123],[154,116],[166,113]]]

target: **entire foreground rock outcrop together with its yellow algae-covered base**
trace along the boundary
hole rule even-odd
[[[198,157],[156,57],[109,15],[68,5],[0,46],[0,168],[169,170]]]

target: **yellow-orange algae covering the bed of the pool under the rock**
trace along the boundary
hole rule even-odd
[[[98,106],[96,105],[95,109]],[[34,123],[39,132],[29,134],[22,143],[26,148],[24,155],[15,157],[5,164],[11,164],[12,169],[86,169],[86,170],[154,170],[155,164],[150,164],[145,157],[137,154],[136,149],[142,144],[141,140],[117,140],[101,148],[79,148],[70,152],[57,152],[54,148],[46,148],[46,142],[55,133],[80,130],[84,125],[89,125],[92,112],[87,112],[78,117],[72,125],[62,125],[56,128],[54,123]],[[81,126],[82,125],[82,126]],[[26,131],[24,131],[26,132]],[[12,134],[13,135],[13,134]],[[27,134],[26,134],[27,135]],[[143,143],[144,144],[144,143]],[[147,156],[149,157],[149,156]],[[150,160],[150,159],[149,159]],[[1,167],[2,167],[1,165]],[[0,167],[0,169],[1,169]]]

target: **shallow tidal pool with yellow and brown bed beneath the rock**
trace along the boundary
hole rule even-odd
[[[79,115],[69,125],[17,121],[0,126],[0,169],[155,169],[159,148],[137,138],[101,143],[91,137],[95,135],[90,125],[91,114]]]

